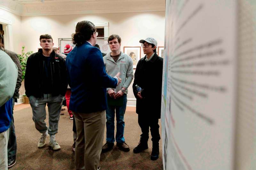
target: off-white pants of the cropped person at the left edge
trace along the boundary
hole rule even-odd
[[[0,169],[8,169],[7,146],[9,139],[9,129],[0,133]]]

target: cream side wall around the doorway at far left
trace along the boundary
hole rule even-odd
[[[22,38],[21,38],[21,16],[15,15],[11,12],[0,9],[0,19],[8,20],[12,22],[12,45],[13,50],[16,53],[20,53],[22,46]],[[1,23],[2,24],[2,23]]]

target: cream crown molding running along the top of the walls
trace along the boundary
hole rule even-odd
[[[2,1],[0,1],[2,2]],[[0,8],[20,16],[165,11],[165,0],[105,0],[20,4],[4,0]]]

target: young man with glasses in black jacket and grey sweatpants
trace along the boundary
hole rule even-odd
[[[51,35],[41,35],[40,45],[42,49],[28,58],[25,90],[29,97],[36,129],[42,133],[37,147],[44,147],[45,139],[49,134],[49,146],[53,150],[59,150],[60,145],[55,140],[55,134],[58,132],[60,110],[68,86],[66,65],[65,60],[52,50],[54,43]],[[49,111],[49,128],[44,121],[46,104]]]

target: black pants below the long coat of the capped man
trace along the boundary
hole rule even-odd
[[[148,133],[149,127],[152,136],[152,142],[159,142],[160,134],[159,134],[159,125],[158,125],[158,118],[150,118],[148,115],[145,114],[138,114],[138,123],[141,128],[142,134],[140,135],[141,141],[148,141]]]

